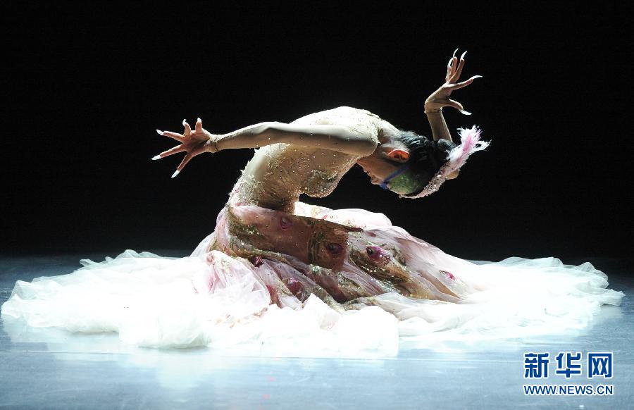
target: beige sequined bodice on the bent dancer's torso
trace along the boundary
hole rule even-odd
[[[352,107],[313,113],[292,124],[363,128],[363,132],[369,132],[377,144],[380,132],[378,116]],[[261,147],[256,149],[253,159],[242,170],[230,200],[292,213],[300,194],[327,196],[359,158],[361,156],[284,143]]]

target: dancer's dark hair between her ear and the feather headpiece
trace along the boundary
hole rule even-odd
[[[447,161],[449,151],[456,147],[454,142],[448,139],[438,139],[433,141],[424,135],[418,135],[414,131],[401,130],[398,140],[402,142],[409,151],[409,172],[421,181],[423,187],[428,184],[433,175],[440,170],[440,167]],[[392,161],[395,166],[402,163]],[[420,192],[420,191],[418,191]],[[411,192],[410,194],[418,194]]]

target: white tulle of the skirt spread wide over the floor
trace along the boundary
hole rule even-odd
[[[380,294],[375,306],[335,311],[314,294],[300,302],[271,304],[263,277],[287,268],[221,251],[207,253],[214,233],[191,256],[163,257],[126,250],[67,275],[18,280],[2,305],[4,319],[71,332],[118,332],[145,347],[231,347],[243,343],[302,344],[304,349],[398,348],[399,337],[474,340],[523,337],[580,329],[602,304],[619,305],[622,292],[607,289],[607,275],[591,263],[566,265],[554,257],[510,257],[476,265],[433,247],[382,213],[361,209],[329,211],[328,219],[362,220],[383,235],[407,235],[411,248],[429,263],[459,272],[468,294],[464,303]]]

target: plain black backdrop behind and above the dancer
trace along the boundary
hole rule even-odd
[[[466,259],[629,256],[631,10],[452,2],[212,2],[62,8],[4,4],[4,254],[191,251],[253,150],[170,175],[182,154],[154,131],[197,116],[224,133],[337,106],[430,135],[423,101],[467,50],[445,108],[492,140],[460,177],[399,199],[354,167],[329,197],[385,213]]]

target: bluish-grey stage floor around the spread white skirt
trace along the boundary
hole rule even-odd
[[[185,256],[185,251],[157,251]],[[108,254],[116,256],[116,254]],[[0,257],[0,304],[15,280],[70,273],[100,255]],[[634,259],[580,258],[626,293],[588,328],[535,337],[425,346],[403,341],[397,356],[287,356],[282,352],[142,349],[115,333],[1,323],[0,407],[28,409],[626,409],[634,399]],[[477,262],[476,262],[477,263]],[[547,379],[524,378],[524,354],[550,355]],[[556,374],[559,352],[582,352],[582,375]],[[588,378],[588,352],[613,354],[613,377]],[[523,385],[612,385],[613,395],[525,395]]]

